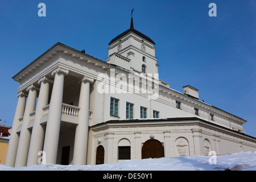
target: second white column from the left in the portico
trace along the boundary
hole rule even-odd
[[[35,110],[37,90],[34,85],[27,88],[28,97],[22,121],[22,129],[20,130],[18,150],[15,160],[15,167],[23,167],[27,165],[28,148],[30,146],[31,133],[27,129],[30,122],[30,113]]]

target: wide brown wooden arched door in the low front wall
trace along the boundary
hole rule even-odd
[[[155,139],[147,140],[142,146],[142,159],[163,158],[164,147],[161,142]]]

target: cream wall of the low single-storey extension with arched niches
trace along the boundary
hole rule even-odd
[[[92,151],[88,154],[88,163],[95,164],[96,150],[103,146],[106,155],[105,163],[118,162],[118,143],[125,139],[131,147],[131,159],[141,159],[142,146],[150,140],[150,135],[159,140],[164,146],[164,156],[167,158],[181,155],[208,155],[209,151],[217,155],[229,154],[231,152],[254,151],[255,141],[248,136],[237,136],[236,132],[218,129],[207,122],[198,121],[144,121],[130,122],[121,121],[116,123],[105,123],[94,126],[90,131],[92,138]],[[110,137],[111,135],[111,137]],[[205,140],[209,147],[205,147]],[[100,142],[99,142],[100,141]],[[179,143],[183,143],[179,152]],[[111,147],[109,148],[109,143]],[[184,152],[185,151],[185,152]]]

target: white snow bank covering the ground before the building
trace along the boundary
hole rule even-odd
[[[124,160],[118,163],[85,166],[38,164],[14,168],[0,164],[0,171],[218,171],[226,169],[256,171],[256,151],[218,156]]]

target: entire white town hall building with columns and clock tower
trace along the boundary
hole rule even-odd
[[[56,43],[17,73],[6,165],[254,151],[244,119],[200,101],[190,85],[180,93],[158,80],[154,45],[131,18],[106,61]]]

